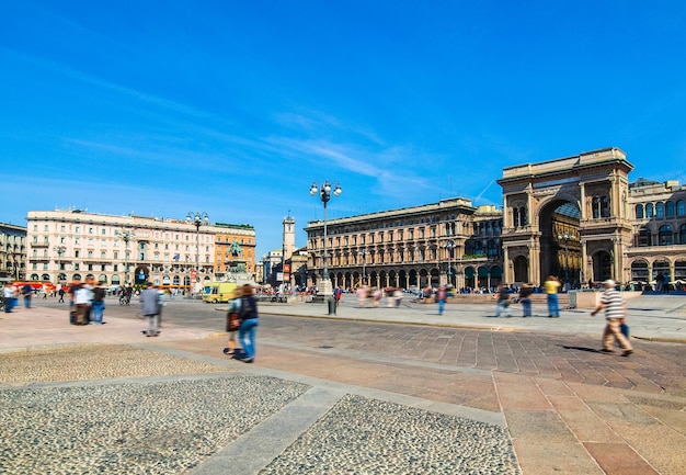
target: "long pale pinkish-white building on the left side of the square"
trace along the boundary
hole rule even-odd
[[[33,281],[67,283],[92,274],[113,286],[150,281],[192,289],[217,279],[217,236],[254,248],[251,227],[196,227],[185,219],[80,210],[32,211],[26,220],[26,278]]]

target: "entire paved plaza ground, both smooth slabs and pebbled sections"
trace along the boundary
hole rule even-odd
[[[38,301],[0,315],[0,473],[683,474],[686,296],[628,307],[621,358],[585,309],[261,304],[245,364],[226,305],[144,338],[136,305],[75,327]]]

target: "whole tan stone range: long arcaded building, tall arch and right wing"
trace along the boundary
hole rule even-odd
[[[333,285],[570,287],[614,279],[686,283],[686,188],[631,183],[615,147],[507,167],[503,207],[466,199],[327,222]],[[323,222],[308,223],[308,285],[323,270]]]

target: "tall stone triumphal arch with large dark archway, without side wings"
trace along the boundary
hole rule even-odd
[[[540,285],[550,274],[572,287],[628,280],[632,169],[614,147],[505,168],[498,180],[504,282]]]

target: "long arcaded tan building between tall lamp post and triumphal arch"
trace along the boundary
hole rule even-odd
[[[502,278],[502,213],[466,199],[327,220],[334,286],[491,287]],[[309,222],[308,285],[323,270],[323,222]]]

